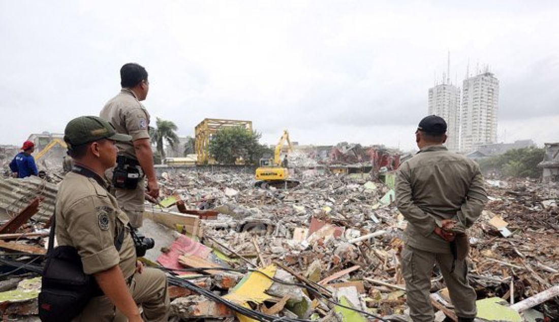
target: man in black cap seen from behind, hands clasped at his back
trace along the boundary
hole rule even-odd
[[[400,165],[396,202],[408,220],[402,249],[402,273],[410,315],[414,321],[433,321],[430,278],[437,263],[459,321],[473,321],[476,293],[466,278],[465,230],[487,202],[479,166],[451,153],[446,122],[430,115],[419,123],[415,139],[420,151]]]

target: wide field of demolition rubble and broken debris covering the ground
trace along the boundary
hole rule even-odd
[[[163,173],[140,232],[155,239],[146,264],[168,272],[170,319],[408,321],[406,221],[393,187],[368,173],[326,173],[300,171],[289,190],[254,188],[253,174]],[[60,178],[29,179],[17,192],[17,179],[0,181],[3,320],[38,320],[48,205]],[[478,319],[558,320],[557,185],[486,186],[490,202],[468,231]],[[431,291],[435,320],[456,320],[437,268]]]

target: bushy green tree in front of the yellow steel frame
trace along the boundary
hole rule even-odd
[[[254,164],[269,149],[260,144],[261,135],[249,131],[243,126],[225,127],[212,135],[209,152],[212,158],[223,164],[233,164],[242,158],[248,164]]]

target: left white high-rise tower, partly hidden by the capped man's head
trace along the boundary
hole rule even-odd
[[[447,83],[429,88],[429,115],[437,115],[447,122],[447,143],[450,151],[458,151],[460,122],[460,89]]]

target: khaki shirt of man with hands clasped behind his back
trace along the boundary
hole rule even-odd
[[[396,204],[408,220],[405,241],[429,252],[450,253],[435,224],[453,219],[470,228],[487,202],[477,163],[443,145],[427,146],[402,163],[396,174]]]

